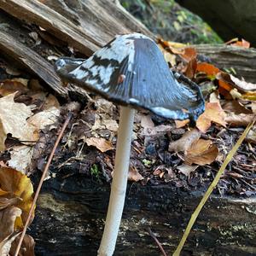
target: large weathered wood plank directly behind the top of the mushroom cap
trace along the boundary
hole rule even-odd
[[[0,0],[0,8],[17,19],[43,27],[88,56],[116,34],[141,31],[151,35],[145,26],[108,0],[79,0],[69,6],[61,0],[41,2]]]

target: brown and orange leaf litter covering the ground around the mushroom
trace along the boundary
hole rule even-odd
[[[247,44],[243,42],[239,46],[242,45]],[[188,120],[174,122],[147,111],[138,112],[134,124],[129,180],[143,185],[169,183],[174,188],[186,191],[205,187],[240,137],[242,127],[255,119],[255,84],[224,73],[212,63],[198,61],[193,47],[163,40],[160,47],[173,69],[185,73],[201,86],[207,108],[194,129],[189,128]],[[3,165],[13,167],[12,170],[32,174],[43,169],[69,107],[60,104],[55,96],[45,91],[38,80],[12,78],[17,75],[19,73],[9,72],[9,79],[0,80],[0,104],[2,102],[3,109],[12,104],[15,109],[10,113],[0,111],[4,128],[0,135],[0,160]],[[113,103],[89,95],[82,109],[74,113],[70,129],[55,155],[55,167],[49,171],[49,177],[55,177],[55,171],[65,172],[68,166],[85,176],[94,175],[97,182],[109,182],[114,166],[118,117],[119,109]],[[230,166],[221,177],[228,183],[217,186],[215,193],[253,195],[256,190],[255,125]],[[253,178],[241,182],[247,175]],[[237,186],[237,183],[240,185]],[[26,188],[29,193],[25,203],[20,192],[12,197],[5,189],[0,183],[0,214],[9,209],[9,217],[15,220],[7,222],[9,234],[0,241],[0,248],[11,251],[11,243],[18,236],[15,229],[22,226],[22,216],[26,216],[28,201],[31,201],[31,190]],[[25,207],[20,207],[21,201]],[[25,247],[32,248],[33,241],[28,236],[27,241],[29,246]]]

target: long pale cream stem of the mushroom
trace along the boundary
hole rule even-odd
[[[135,110],[129,107],[120,107],[118,141],[115,155],[113,182],[106,224],[102,236],[98,256],[113,254],[119,232],[119,224],[125,204],[125,192],[131,153],[131,136]]]

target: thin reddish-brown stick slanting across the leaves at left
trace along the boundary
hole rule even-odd
[[[49,155],[49,159],[48,159],[48,161],[47,161],[47,164],[46,164],[46,166],[44,167],[44,172],[43,172],[43,174],[42,174],[42,177],[41,177],[41,179],[40,179],[40,182],[38,183],[38,189],[37,189],[36,194],[35,194],[35,196],[34,196],[34,199],[33,199],[33,201],[32,201],[32,206],[31,206],[31,208],[30,208],[30,210],[29,210],[28,217],[26,218],[26,224],[24,225],[24,229],[22,230],[22,233],[21,233],[21,236],[20,236],[20,241],[19,241],[19,243],[18,243],[18,245],[17,245],[17,247],[16,247],[16,250],[15,250],[15,256],[18,256],[18,254],[19,254],[20,247],[21,247],[21,243],[22,243],[22,241],[23,241],[23,239],[24,239],[24,236],[25,236],[25,234],[26,234],[26,229],[27,229],[27,226],[28,226],[28,224],[29,224],[29,222],[30,222],[30,219],[31,219],[31,217],[32,217],[32,212],[33,212],[33,210],[34,210],[34,208],[35,208],[35,205],[36,205],[36,202],[37,202],[37,200],[38,200],[38,195],[39,195],[39,192],[40,192],[40,190],[41,190],[42,184],[43,184],[43,182],[44,182],[44,178],[45,178],[46,173],[47,173],[47,171],[48,171],[48,169],[49,169],[49,165],[50,165],[50,163],[51,163],[51,160],[52,160],[53,157],[54,157],[55,150],[56,150],[58,144],[59,144],[60,141],[61,141],[61,137],[63,136],[63,133],[64,133],[64,131],[65,131],[66,127],[67,127],[67,124],[69,123],[71,117],[72,117],[72,113],[68,113],[67,119],[65,120],[65,122],[64,122],[64,124],[63,124],[63,126],[62,126],[62,128],[61,128],[61,131],[60,131],[60,133],[59,133],[59,136],[57,137],[57,139],[56,139],[56,141],[55,141],[55,145],[54,145],[54,147],[52,148],[52,151],[51,151],[51,153],[50,153],[50,155]]]

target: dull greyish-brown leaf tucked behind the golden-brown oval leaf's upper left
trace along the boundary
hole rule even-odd
[[[175,142],[169,144],[169,151],[175,152],[186,152],[192,143],[196,142],[201,137],[201,132],[197,129],[187,131],[183,134],[183,137],[178,139]]]

